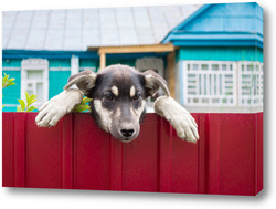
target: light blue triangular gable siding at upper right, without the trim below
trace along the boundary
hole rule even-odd
[[[263,34],[263,10],[257,3],[212,4],[180,30]]]

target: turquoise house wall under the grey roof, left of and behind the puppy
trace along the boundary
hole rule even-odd
[[[134,66],[138,58],[153,56],[155,54],[108,54],[106,59],[106,65],[112,64],[127,64]],[[160,56],[163,56],[161,54]],[[30,56],[32,58],[32,56]],[[25,58],[25,59],[29,59]],[[34,58],[35,59],[35,58]],[[49,100],[57,95],[63,91],[64,85],[67,83],[71,76],[71,56],[66,58],[42,58],[49,61]],[[3,112],[15,112],[19,105],[18,100],[21,98],[21,62],[23,59],[2,59],[3,73],[10,75],[10,77],[15,79],[15,85],[9,86],[3,90],[2,103],[4,107]],[[163,59],[166,60],[166,59]],[[79,71],[89,69],[97,72],[99,69],[98,58],[79,58]],[[164,62],[166,65],[166,62]],[[166,67],[166,66],[164,66]],[[23,100],[25,100],[23,97]]]

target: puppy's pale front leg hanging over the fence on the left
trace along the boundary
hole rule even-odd
[[[35,117],[35,123],[40,127],[55,126],[56,123],[75,105],[81,104],[83,93],[79,90],[68,88],[46,102]]]

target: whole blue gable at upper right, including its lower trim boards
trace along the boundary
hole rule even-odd
[[[162,41],[179,46],[263,48],[263,9],[257,3],[205,4]]]

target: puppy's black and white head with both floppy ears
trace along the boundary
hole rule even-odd
[[[73,84],[93,98],[96,124],[121,142],[138,136],[148,96],[155,96],[159,87],[169,96],[166,81],[155,71],[140,73],[127,65],[110,65],[97,74],[83,71],[72,75],[64,88]]]

